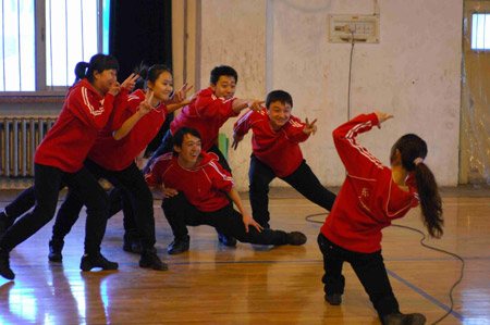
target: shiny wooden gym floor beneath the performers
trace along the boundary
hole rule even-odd
[[[0,191],[2,197],[0,208],[8,203]],[[297,195],[286,197],[271,199],[271,225],[304,232],[305,246],[226,248],[201,226],[191,228],[191,251],[177,257],[166,253],[172,236],[155,201],[157,249],[167,272],[143,270],[138,255],[121,249],[121,215],[110,220],[103,242],[119,271],[79,271],[85,213],[65,239],[63,263],[50,263],[50,223],[11,253],[16,278],[0,278],[0,324],[380,324],[348,264],[342,305],[323,301],[319,225],[305,221],[322,210]],[[453,293],[454,311],[440,324],[490,324],[490,197],[455,190],[443,202],[445,234],[428,243],[460,254],[466,265]],[[422,228],[417,211],[399,224]],[[402,312],[424,313],[431,324],[449,310],[461,262],[421,247],[419,239],[390,227],[383,255]]]

